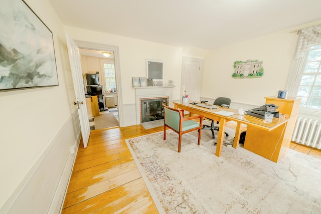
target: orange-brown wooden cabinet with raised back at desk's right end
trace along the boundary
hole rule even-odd
[[[277,111],[285,114],[287,122],[271,131],[262,130],[255,126],[248,126],[244,148],[273,162],[277,162],[287,153],[289,148],[301,98],[264,98],[266,99],[265,104],[275,104],[278,106]]]

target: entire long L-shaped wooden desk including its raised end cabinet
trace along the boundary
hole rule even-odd
[[[233,147],[237,148],[241,134],[241,124],[247,125],[244,148],[250,150],[273,162],[277,162],[286,153],[293,133],[300,99],[287,98],[279,99],[265,97],[266,104],[274,103],[279,107],[279,113],[285,114],[285,119],[273,118],[271,123],[264,123],[263,120],[249,116],[238,115],[236,109],[221,108],[207,109],[190,103],[174,102],[175,108],[184,109],[191,114],[198,114],[220,122],[218,141],[215,155],[220,157],[223,146],[225,125],[227,121],[236,121],[236,132]],[[223,116],[218,112],[224,110],[235,113],[231,116]]]

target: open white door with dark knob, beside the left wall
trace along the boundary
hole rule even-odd
[[[88,112],[87,112],[87,106],[86,106],[84,83],[83,83],[82,72],[81,72],[79,48],[77,44],[68,36],[68,34],[66,35],[66,40],[67,40],[67,47],[68,47],[68,53],[69,53],[71,74],[74,82],[74,90],[76,95],[76,102],[74,102],[74,104],[77,105],[77,108],[78,108],[78,116],[79,116],[82,140],[84,143],[84,147],[86,148],[88,144],[89,135],[90,135],[90,127],[89,127]]]

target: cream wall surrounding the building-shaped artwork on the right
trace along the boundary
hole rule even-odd
[[[315,23],[307,24],[313,26]],[[293,29],[257,37],[211,50],[204,58],[201,97],[230,97],[232,102],[263,105],[264,97],[284,90],[296,51],[298,35]],[[264,75],[257,79],[234,79],[235,61],[262,60]]]

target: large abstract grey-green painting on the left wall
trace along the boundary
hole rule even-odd
[[[58,85],[53,35],[22,0],[2,0],[0,91]]]

